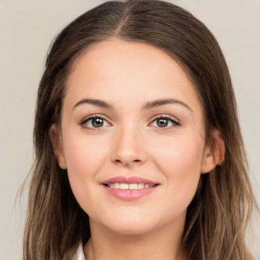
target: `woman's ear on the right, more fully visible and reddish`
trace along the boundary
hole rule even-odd
[[[214,129],[211,132],[211,142],[205,147],[201,173],[209,173],[217,165],[221,165],[225,156],[225,143],[220,132]]]

